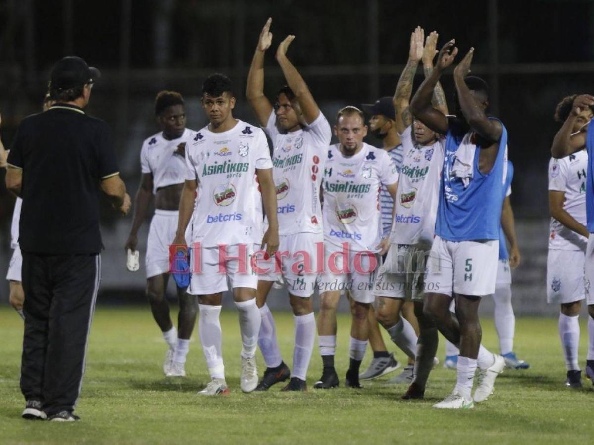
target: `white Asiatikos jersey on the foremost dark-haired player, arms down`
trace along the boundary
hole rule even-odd
[[[247,122],[213,133],[208,126],[186,146],[186,180],[197,180],[192,242],[261,243],[262,197],[255,169],[271,169],[264,132]]]

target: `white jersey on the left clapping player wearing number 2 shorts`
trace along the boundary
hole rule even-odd
[[[274,111],[264,131],[273,141],[279,234],[321,233],[321,172],[330,139],[330,124],[320,115],[304,129],[279,132]]]

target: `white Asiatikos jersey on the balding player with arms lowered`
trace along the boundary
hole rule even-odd
[[[324,167],[324,242],[351,250],[370,250],[381,240],[380,186],[398,182],[398,171],[386,150],[363,144],[351,157],[330,145]]]

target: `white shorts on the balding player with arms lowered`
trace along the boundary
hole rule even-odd
[[[324,244],[324,272],[318,281],[318,291],[350,291],[353,300],[359,303],[373,303],[375,295],[373,285],[375,272],[378,269],[380,258],[377,253],[349,250],[348,264],[342,247],[333,244]],[[330,255],[333,255],[332,258]]]

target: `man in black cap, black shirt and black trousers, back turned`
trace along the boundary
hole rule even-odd
[[[101,278],[99,189],[127,214],[107,123],[83,112],[96,68],[67,57],[50,81],[55,104],[24,119],[8,155],[7,188],[23,198],[23,417],[75,421]]]

